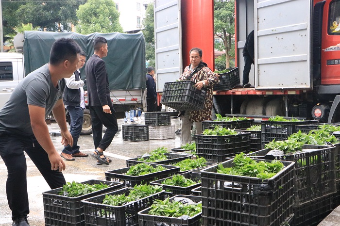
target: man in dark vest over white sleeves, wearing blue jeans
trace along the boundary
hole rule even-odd
[[[68,110],[71,118],[69,132],[73,138],[73,145],[69,144],[64,147],[60,156],[68,161],[73,161],[74,157],[87,157],[79,150],[78,139],[83,129],[85,99],[83,86],[86,84],[86,79],[80,79],[80,70],[86,61],[86,54],[84,51],[80,53],[80,61],[78,63],[78,69],[73,73],[71,78],[66,79],[66,88],[64,92],[64,105]]]

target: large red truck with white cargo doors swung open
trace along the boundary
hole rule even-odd
[[[154,15],[160,97],[189,64],[190,48],[202,48],[214,70],[214,1],[157,0]],[[215,91],[215,113],[340,121],[340,0],[235,0],[235,29],[240,81],[255,30],[254,88]]]

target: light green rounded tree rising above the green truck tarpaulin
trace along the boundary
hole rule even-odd
[[[119,23],[119,12],[113,0],[88,0],[77,10],[79,19],[77,32],[123,32]]]

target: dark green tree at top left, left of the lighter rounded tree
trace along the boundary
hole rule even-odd
[[[47,31],[70,31],[70,25],[77,24],[76,10],[85,2],[86,0],[26,0],[20,2],[14,15],[6,19],[16,17],[24,24],[32,23],[33,26],[40,26]]]

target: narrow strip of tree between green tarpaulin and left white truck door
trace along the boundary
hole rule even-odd
[[[154,22],[153,22],[153,3],[148,4],[145,12],[145,19],[143,20],[143,35],[145,38],[145,59],[148,61],[149,66],[155,67],[154,55]]]

